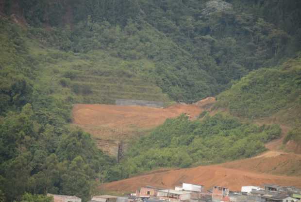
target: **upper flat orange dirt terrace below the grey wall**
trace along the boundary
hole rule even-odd
[[[72,110],[73,124],[96,138],[127,140],[134,136],[136,131],[151,129],[163,124],[167,118],[174,118],[182,113],[188,114],[192,119],[196,118],[214,102],[215,98],[206,98],[201,104],[176,104],[166,109],[77,104]]]

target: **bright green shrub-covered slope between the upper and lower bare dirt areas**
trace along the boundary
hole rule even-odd
[[[251,157],[265,151],[264,143],[280,134],[279,125],[242,124],[222,114],[207,116],[202,122],[181,115],[136,140],[119,165],[123,168],[120,174],[124,177],[160,167],[186,168]]]

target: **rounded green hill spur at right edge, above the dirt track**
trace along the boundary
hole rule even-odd
[[[299,125],[301,57],[278,68],[251,72],[219,94],[216,107],[228,108],[231,114],[250,119],[277,115],[283,123]]]

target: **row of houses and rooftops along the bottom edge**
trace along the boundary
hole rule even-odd
[[[76,196],[49,194],[54,202],[82,202]],[[241,191],[213,186],[206,190],[202,185],[183,183],[175,189],[160,189],[143,186],[136,193],[119,197],[94,196],[89,202],[301,202],[301,189],[294,186],[264,185],[242,186]]]

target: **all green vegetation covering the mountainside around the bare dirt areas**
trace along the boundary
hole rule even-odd
[[[0,202],[48,202],[35,195],[47,192],[85,202],[100,181],[263,151],[278,126],[181,116],[116,165],[69,126],[71,108],[116,98],[192,103],[229,89],[217,108],[250,119],[291,109],[295,121],[284,117],[296,123],[300,19],[299,0],[0,0]],[[299,140],[296,131],[288,139]]]

